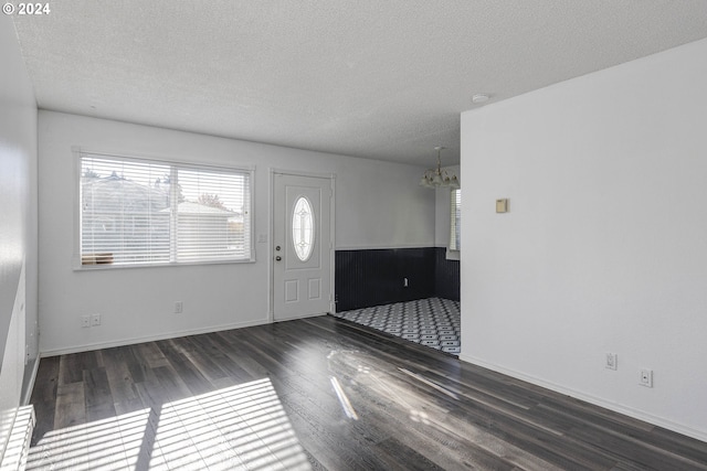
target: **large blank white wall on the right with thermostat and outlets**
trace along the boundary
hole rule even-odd
[[[706,83],[704,40],[463,114],[463,360],[707,439]]]

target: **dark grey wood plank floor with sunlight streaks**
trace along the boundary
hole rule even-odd
[[[28,469],[707,470],[707,443],[333,317],[42,358]]]

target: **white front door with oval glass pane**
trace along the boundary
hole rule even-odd
[[[333,312],[333,179],[273,178],[274,320]]]

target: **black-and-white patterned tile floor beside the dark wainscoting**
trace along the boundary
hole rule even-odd
[[[461,351],[458,301],[428,298],[334,315],[453,355]]]

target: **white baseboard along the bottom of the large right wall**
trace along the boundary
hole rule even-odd
[[[632,407],[622,406],[621,404],[612,403],[606,399],[602,399],[601,397],[592,396],[591,394],[582,393],[581,390],[576,390],[569,387],[561,386],[556,383],[551,383],[545,379],[537,378],[535,376],[527,375],[525,373],[520,373],[515,370],[506,368],[504,366],[488,363],[483,360],[476,358],[474,356],[468,356],[464,354],[460,354],[460,360],[466,363],[471,363],[476,366],[481,366],[487,370],[492,370],[497,373],[502,373],[517,379],[521,379],[537,386],[545,387],[547,389],[553,390],[556,393],[566,394],[570,397],[574,397],[577,399],[584,400],[587,403],[593,404],[595,406],[604,407],[609,410],[613,410],[614,413],[623,414],[625,416],[632,417],[634,419],[644,420],[648,424],[666,428],[668,430],[673,430],[675,432],[685,435],[687,437],[695,438],[697,440],[707,441],[707,430],[698,430],[692,427],[684,426],[682,424],[674,422],[672,420],[665,419],[663,417],[654,416],[652,414],[644,413],[643,410],[634,409]]]

